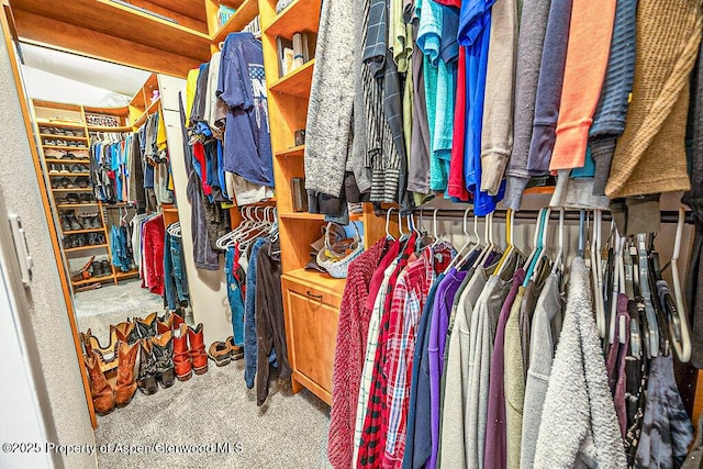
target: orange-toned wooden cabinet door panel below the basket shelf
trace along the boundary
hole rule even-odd
[[[286,321],[291,366],[332,393],[339,299],[302,284],[290,287],[286,290]]]

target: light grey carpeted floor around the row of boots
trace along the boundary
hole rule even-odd
[[[79,327],[91,327],[103,344],[111,323],[152,311],[160,314],[160,298],[136,281],[76,295]],[[221,368],[210,361],[205,375],[154,395],[137,391],[126,407],[98,416],[96,444],[107,445],[98,451],[98,467],[327,468],[328,427],[330,407],[309,391],[292,394],[288,381],[272,380],[269,398],[257,407],[243,360]]]

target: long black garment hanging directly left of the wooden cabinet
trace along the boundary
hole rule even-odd
[[[276,351],[279,377],[292,375],[286,344],[281,259],[280,254],[274,253],[280,253],[280,244],[266,242],[256,256],[256,405],[263,405],[268,397],[271,349]]]

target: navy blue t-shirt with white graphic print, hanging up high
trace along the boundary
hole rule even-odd
[[[232,33],[225,40],[217,96],[228,107],[224,169],[252,183],[274,187],[264,55],[252,33]]]

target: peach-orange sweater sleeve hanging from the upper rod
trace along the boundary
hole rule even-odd
[[[551,170],[583,166],[607,68],[615,5],[616,0],[573,0]]]

